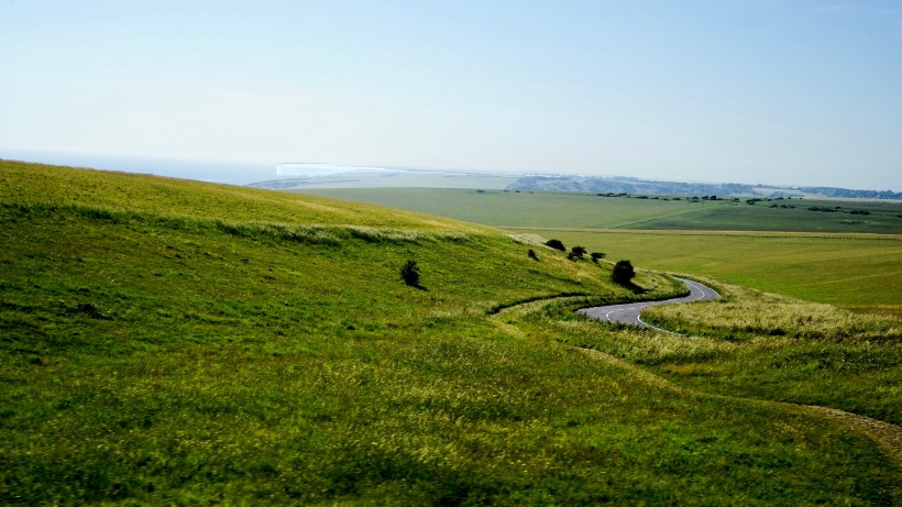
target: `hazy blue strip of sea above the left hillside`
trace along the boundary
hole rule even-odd
[[[276,164],[238,164],[231,162],[185,161],[150,158],[92,153],[41,152],[2,150],[0,158],[7,161],[36,162],[41,164],[89,167],[92,169],[120,170],[123,173],[152,174],[170,178],[228,185],[251,185],[277,178]]]

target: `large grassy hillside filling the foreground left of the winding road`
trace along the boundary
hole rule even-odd
[[[0,503],[892,502],[898,470],[840,426],[646,382],[561,344],[566,319],[486,316],[629,297],[607,267],[365,206],[0,164]]]

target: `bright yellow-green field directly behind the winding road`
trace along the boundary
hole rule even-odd
[[[610,260],[704,274],[759,290],[871,310],[902,310],[902,236],[704,231],[530,230]]]

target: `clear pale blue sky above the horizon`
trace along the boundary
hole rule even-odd
[[[902,2],[0,0],[0,158],[900,191]]]

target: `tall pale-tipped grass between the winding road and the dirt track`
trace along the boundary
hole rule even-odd
[[[719,283],[715,301],[652,307],[681,334],[558,319],[566,343],[651,367],[702,392],[822,405],[902,422],[899,319]]]

